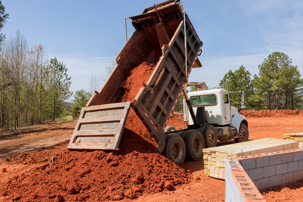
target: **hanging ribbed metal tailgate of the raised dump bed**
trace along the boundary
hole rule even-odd
[[[131,103],[83,107],[67,148],[117,150]]]

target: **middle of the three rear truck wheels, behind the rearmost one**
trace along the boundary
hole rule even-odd
[[[190,131],[185,138],[186,157],[191,161],[200,161],[203,158],[202,149],[205,142],[199,131]]]

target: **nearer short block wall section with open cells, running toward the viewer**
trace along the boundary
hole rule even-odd
[[[266,202],[239,161],[225,161],[225,202]]]

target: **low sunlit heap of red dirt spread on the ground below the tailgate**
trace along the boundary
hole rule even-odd
[[[8,171],[1,173],[2,201],[134,199],[142,193],[172,190],[191,178],[189,171],[161,154],[73,151],[65,149],[67,143],[2,161],[10,167],[18,163],[28,167],[22,174],[10,170],[5,181]]]

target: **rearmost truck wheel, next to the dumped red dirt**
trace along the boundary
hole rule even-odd
[[[177,165],[182,165],[185,159],[185,143],[179,135],[167,135],[162,154]]]

